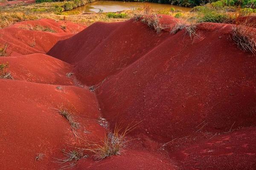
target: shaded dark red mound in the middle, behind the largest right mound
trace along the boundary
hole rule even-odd
[[[164,23],[174,22],[169,19]],[[95,85],[154,50],[169,38],[168,34],[155,34],[145,24],[133,20],[95,23],[74,37],[58,42],[48,55],[77,63],[74,72],[82,73],[79,79],[84,84]]]

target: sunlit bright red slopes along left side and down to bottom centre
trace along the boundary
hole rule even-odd
[[[52,23],[51,20],[46,21]],[[77,165],[73,161],[56,163],[57,159],[67,159],[63,152],[76,150],[75,147],[83,148],[87,142],[101,141],[108,129],[100,126],[99,118],[102,115],[95,93],[81,84],[76,87],[79,82],[75,76],[66,76],[72,71],[73,65],[38,53],[44,53],[55,41],[71,34],[24,30],[19,28],[23,23],[5,28],[7,34],[1,39],[3,44],[9,45],[8,54],[12,54],[12,57],[2,57],[0,63],[9,63],[7,71],[14,80],[0,79],[0,153],[3,156],[0,169],[175,169],[165,156],[145,151],[144,148],[133,150],[130,142],[131,149],[127,146],[122,150],[122,156],[114,156],[113,161],[110,158],[97,162],[93,156],[87,159],[85,156]],[[55,24],[47,25],[45,20],[26,23],[47,27]],[[31,38],[41,43],[35,45],[39,50],[28,47],[26,40]],[[40,42],[48,41],[47,38],[49,44]],[[76,130],[78,136],[75,137],[68,120],[60,115],[60,108],[67,108],[73,119],[79,122],[80,128]],[[39,153],[43,154],[40,160],[37,159]]]

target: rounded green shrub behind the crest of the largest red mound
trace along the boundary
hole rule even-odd
[[[228,20],[228,16],[226,14],[216,13],[214,11],[207,12],[203,17],[199,18],[199,22],[209,22],[209,23],[224,23]]]

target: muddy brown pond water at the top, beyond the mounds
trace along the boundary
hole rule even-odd
[[[161,3],[141,3],[141,2],[124,2],[124,1],[109,1],[109,0],[99,0],[93,3],[88,3],[85,6],[80,6],[72,11],[84,12],[99,12],[102,9],[103,12],[116,12],[133,9],[138,6],[149,5],[154,10],[161,10],[166,8],[175,8],[175,10],[189,11],[191,8],[173,6],[170,4]]]

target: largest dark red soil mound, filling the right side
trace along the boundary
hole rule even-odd
[[[145,119],[140,133],[160,142],[200,128],[227,131],[233,122],[254,125],[256,58],[230,41],[229,26],[198,29],[194,41],[180,31],[103,83],[97,94],[105,117]]]

